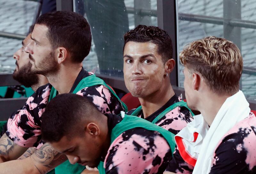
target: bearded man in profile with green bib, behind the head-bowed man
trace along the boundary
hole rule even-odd
[[[91,101],[103,114],[127,110],[116,94],[100,78],[82,67],[91,47],[90,25],[86,19],[68,11],[55,11],[40,16],[25,47],[29,53],[31,71],[47,77],[28,98],[26,105],[12,121],[0,140],[0,164],[4,173],[46,173],[66,161],[41,140],[41,116],[48,102],[58,94],[76,93]],[[17,159],[29,147],[39,148],[33,155]],[[10,161],[14,160],[14,161]],[[15,165],[15,168],[11,166]],[[80,173],[80,167],[65,162],[56,173]]]

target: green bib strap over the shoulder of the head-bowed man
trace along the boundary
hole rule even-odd
[[[156,126],[155,124],[150,123],[147,120],[141,119],[136,116],[131,116],[131,115],[125,115],[124,119],[116,124],[116,126],[112,129],[111,136],[110,136],[110,144],[123,132],[135,128],[135,127],[142,127],[147,130],[151,131],[157,131],[160,134],[163,135],[165,140],[168,142],[172,153],[174,152],[175,149],[175,141],[174,141],[174,134],[171,132],[165,130],[162,127]],[[100,174],[105,174],[105,169],[104,169],[104,163],[101,161],[98,170]]]

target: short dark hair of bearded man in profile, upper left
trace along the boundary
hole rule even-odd
[[[47,38],[52,47],[65,47],[73,62],[82,62],[89,54],[92,34],[82,15],[72,11],[54,11],[41,15],[36,24],[48,27]]]

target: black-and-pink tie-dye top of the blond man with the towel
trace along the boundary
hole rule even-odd
[[[186,163],[178,149],[166,171],[192,173],[194,166]],[[256,117],[253,113],[237,123],[221,139],[213,155],[210,174],[256,173]]]

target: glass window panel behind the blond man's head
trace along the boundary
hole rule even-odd
[[[177,0],[179,52],[191,41],[216,36],[233,41],[241,50],[244,69],[240,88],[256,100],[256,4],[254,0]],[[226,4],[223,4],[226,3]],[[235,20],[241,21],[242,25]],[[231,21],[230,21],[231,20]],[[251,25],[243,25],[251,24]],[[234,26],[236,25],[236,26]],[[179,86],[184,67],[179,63]]]

